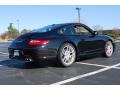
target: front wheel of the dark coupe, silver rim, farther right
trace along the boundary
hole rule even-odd
[[[114,47],[111,41],[107,41],[104,47],[104,56],[111,57],[114,52]]]

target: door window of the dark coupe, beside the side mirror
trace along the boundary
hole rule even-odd
[[[91,33],[82,26],[74,26],[76,35],[91,35]]]

